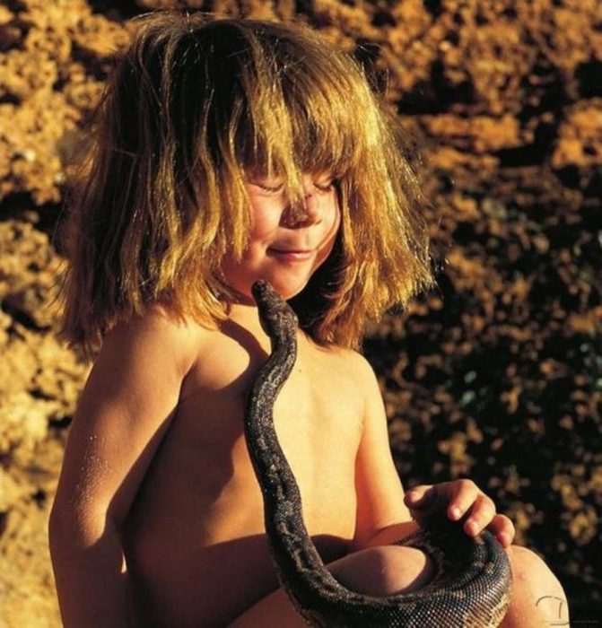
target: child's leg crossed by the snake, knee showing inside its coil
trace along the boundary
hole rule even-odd
[[[386,545],[349,554],[328,565],[336,579],[349,589],[368,595],[386,596],[420,589],[431,578],[430,560],[412,547]],[[283,589],[259,600],[229,628],[306,626]]]

